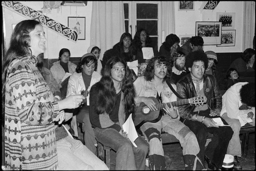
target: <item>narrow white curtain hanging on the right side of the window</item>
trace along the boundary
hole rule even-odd
[[[170,34],[175,34],[174,1],[161,1],[161,43]]]

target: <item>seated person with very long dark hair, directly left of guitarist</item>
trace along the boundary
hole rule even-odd
[[[102,78],[90,90],[89,116],[97,141],[115,150],[115,170],[145,170],[147,142],[137,133],[135,147],[123,131],[123,124],[135,112],[135,90],[126,62],[111,57]]]

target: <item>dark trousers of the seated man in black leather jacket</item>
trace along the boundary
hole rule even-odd
[[[197,114],[197,112],[194,113]],[[209,116],[209,114],[210,110],[199,112],[200,116],[212,118]],[[224,124],[227,124],[222,118],[221,120]],[[192,130],[192,132],[194,132],[197,138],[200,147],[200,158],[203,159],[204,155],[206,155],[212,163],[214,163],[218,168],[221,168],[227,151],[229,140],[233,135],[233,130],[230,127],[226,126],[219,128],[207,128],[204,124],[200,122],[187,119],[183,123],[188,126]],[[209,142],[205,149],[206,137],[208,135],[208,132],[213,134],[213,137],[211,138],[211,142]]]

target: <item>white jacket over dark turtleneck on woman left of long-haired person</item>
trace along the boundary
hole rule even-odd
[[[92,73],[90,86],[88,87],[87,91],[90,92],[91,86],[99,82],[100,79],[101,79],[101,75],[98,72],[94,71]],[[74,72],[72,75],[70,75],[68,80],[66,97],[75,95],[75,94],[81,94],[82,90],[85,90],[82,73]],[[89,94],[86,98],[86,101],[87,101],[87,106],[89,106],[90,105]],[[78,136],[76,115],[72,117],[71,128],[74,130],[74,136]]]

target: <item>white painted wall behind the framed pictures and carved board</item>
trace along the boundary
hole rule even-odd
[[[44,1],[21,1],[23,4],[35,10],[42,10]],[[242,23],[243,23],[243,1],[220,1],[214,10],[202,10],[201,6],[206,1],[194,1],[194,11],[178,11],[178,1],[175,1],[175,34],[179,35],[195,35],[196,21],[216,21],[217,12],[235,12],[235,29],[236,39],[235,46],[216,47],[216,45],[205,45],[204,51],[212,50],[215,52],[242,52]],[[203,8],[203,7],[202,7]],[[61,6],[59,13],[57,9],[52,9],[51,13],[43,13],[44,15],[67,26],[67,17],[85,17],[85,40],[78,40],[76,43],[54,33],[50,29],[44,28],[47,38],[45,58],[58,58],[59,51],[62,48],[68,48],[71,57],[81,57],[87,53],[90,46],[90,24],[91,24],[92,1],[87,1],[87,6]],[[12,24],[17,24],[25,17],[3,8],[6,45],[8,48],[12,33]],[[104,52],[102,52],[103,55]]]

